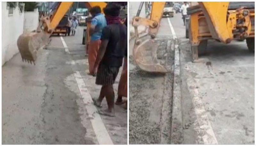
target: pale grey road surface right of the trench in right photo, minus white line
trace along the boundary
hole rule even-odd
[[[207,53],[201,56],[206,62],[191,63],[180,17],[171,22],[180,41],[183,143],[205,143],[195,113],[198,96],[218,144],[254,144],[254,53],[245,41],[228,45],[209,41]]]

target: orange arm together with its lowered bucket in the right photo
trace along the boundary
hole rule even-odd
[[[144,2],[140,2],[138,12],[132,19],[132,26],[134,27],[136,38],[132,51],[133,59],[135,63],[144,71],[153,73],[167,73],[168,71],[166,67],[161,65],[157,60],[157,47],[156,42],[153,40],[156,37],[158,28],[160,27],[159,22],[163,15],[165,2],[154,2],[152,4],[150,19],[139,17],[143,4]],[[140,25],[148,26],[147,36],[139,36],[138,27]],[[148,36],[150,36],[151,39],[148,39]]]

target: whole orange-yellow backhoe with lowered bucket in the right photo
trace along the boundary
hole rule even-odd
[[[153,2],[150,18],[139,17],[143,5],[141,2],[137,15],[132,19],[135,29],[133,59],[144,71],[167,73],[164,65],[158,63],[154,39],[160,27],[165,2]],[[187,8],[190,14],[189,40],[192,62],[198,62],[198,54],[206,49],[207,40],[213,39],[225,44],[232,40],[244,40],[248,49],[254,52],[254,2],[198,2]],[[148,35],[139,37],[138,26],[148,27]],[[146,39],[145,39],[145,38]],[[146,53],[151,50],[151,53]]]

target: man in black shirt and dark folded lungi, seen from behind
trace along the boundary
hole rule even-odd
[[[102,85],[100,96],[94,104],[100,107],[106,96],[108,109],[100,110],[99,113],[111,117],[115,116],[113,84],[122,66],[124,52],[127,50],[127,27],[121,24],[120,8],[120,5],[110,3],[103,9],[108,25],[102,31],[102,42],[93,72],[97,72],[96,84]]]

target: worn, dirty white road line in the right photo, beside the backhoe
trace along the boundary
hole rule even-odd
[[[168,19],[168,23],[169,23],[169,26],[170,26],[171,31],[172,31],[173,39],[177,40],[177,36],[176,36],[175,31],[172,27],[171,20],[170,20],[170,18],[167,18],[167,19]],[[174,51],[175,51],[174,52],[175,53],[174,66],[176,66],[176,65],[180,66],[178,45],[175,45]],[[188,69],[188,66],[187,66],[187,69]],[[175,70],[174,70],[174,83],[176,82],[175,81],[175,76],[178,73],[180,74],[180,67],[177,68],[177,69],[175,68]],[[192,93],[191,95],[193,95],[192,102],[193,102],[195,112],[196,112],[196,118],[197,118],[196,120],[199,123],[200,129],[205,133],[202,136],[203,140],[204,140],[204,144],[218,144],[217,139],[215,137],[215,134],[213,132],[211,123],[209,121],[208,115],[205,111],[204,104],[198,96],[198,90],[195,88],[195,81],[194,80],[189,80],[189,79],[187,81],[188,81],[188,87],[194,87],[191,90],[189,90],[189,92]],[[173,91],[175,90],[175,88],[176,87],[173,87]]]

